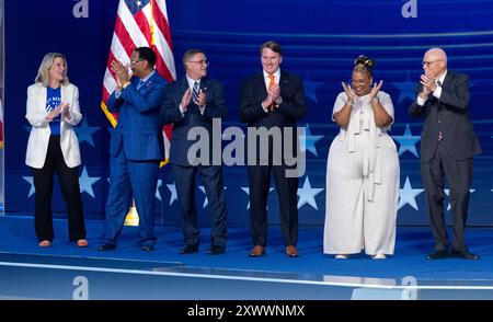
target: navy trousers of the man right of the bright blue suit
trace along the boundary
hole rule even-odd
[[[195,202],[195,177],[198,172],[204,184],[213,220],[210,243],[213,245],[226,246],[228,215],[225,203],[222,168],[219,165],[183,166],[172,164],[172,169],[176,183],[176,195],[181,211],[180,218],[185,243],[199,243],[197,206]]]

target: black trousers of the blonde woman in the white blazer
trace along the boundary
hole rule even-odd
[[[50,136],[45,164],[42,169],[31,168],[34,180],[34,227],[38,241],[54,239],[51,196],[55,171],[58,175],[61,195],[67,206],[69,240],[85,239],[82,198],[79,188],[79,166],[65,163],[60,148],[60,136]]]

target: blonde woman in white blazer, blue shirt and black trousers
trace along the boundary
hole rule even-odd
[[[67,59],[49,53],[39,66],[35,83],[27,88],[25,118],[32,125],[25,163],[31,168],[35,193],[35,231],[39,246],[54,239],[51,195],[58,175],[67,212],[69,239],[87,246],[82,198],[79,188],[80,150],[72,126],[79,124],[79,90],[67,78]]]

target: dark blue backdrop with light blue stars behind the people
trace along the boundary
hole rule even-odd
[[[82,0],[84,1],[84,0]],[[87,0],[89,16],[76,19],[67,0],[5,1],[5,209],[31,214],[34,187],[24,164],[28,124],[24,118],[26,88],[34,81],[43,56],[61,51],[68,74],[79,87],[82,124],[81,189],[88,219],[104,217],[108,189],[110,123],[100,110],[102,79],[113,34],[118,0]],[[404,18],[409,5],[415,18]],[[375,79],[385,81],[395,108],[390,133],[401,162],[400,225],[427,225],[420,175],[419,145],[422,123],[408,115],[414,87],[422,72],[424,51],[440,46],[449,68],[471,77],[471,116],[483,148],[474,161],[469,223],[493,225],[493,2],[486,0],[374,0],[374,1],[168,1],[173,51],[179,76],[181,57],[191,47],[205,49],[209,74],[225,83],[229,116],[238,123],[242,79],[260,71],[259,45],[279,42],[283,69],[303,78],[308,115],[307,173],[299,180],[299,217],[306,225],[323,225],[325,165],[329,146],[337,134],[330,120],[341,81],[351,79],[353,59],[360,54],[377,60]],[[169,166],[161,171],[156,202],[159,222],[176,222],[177,203]],[[248,222],[248,179],[244,166],[225,168],[229,222]],[[59,191],[54,210],[65,209]],[[208,225],[205,195],[197,189],[200,221]],[[448,200],[446,200],[448,205]],[[270,222],[278,222],[275,191],[270,195]]]

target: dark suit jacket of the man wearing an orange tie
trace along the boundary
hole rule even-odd
[[[297,76],[280,71],[279,88],[283,102],[279,107],[265,113],[262,107],[262,101],[267,97],[267,89],[265,87],[263,72],[246,78],[241,88],[240,120],[246,123],[249,127],[254,128],[265,127],[266,129],[270,129],[279,127],[282,134],[283,128],[291,127],[294,130],[293,151],[296,153],[297,119],[305,117],[307,113],[302,81]],[[259,140],[256,147],[256,159],[259,159],[261,156],[259,151]],[[270,145],[270,150],[271,149],[272,146]]]

